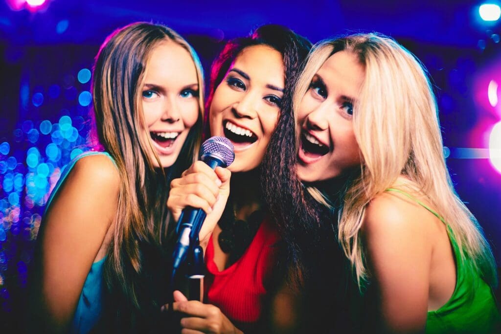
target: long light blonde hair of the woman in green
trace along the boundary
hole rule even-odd
[[[491,285],[497,284],[495,262],[471,212],[454,191],[442,150],[438,110],[422,64],[394,40],[378,34],[358,34],[316,45],[295,92],[297,110],[313,76],[339,51],[356,57],[365,68],[360,98],[354,106],[353,128],[361,166],[351,175],[338,221],[339,242],[352,263],[359,286],[368,277],[360,228],[369,201],[400,175],[427,196],[452,230],[460,256]],[[309,191],[324,205],[328,196]]]

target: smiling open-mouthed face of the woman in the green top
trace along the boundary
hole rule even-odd
[[[360,166],[352,118],[364,77],[362,65],[346,51],[329,57],[313,77],[298,110],[301,180],[323,181]]]

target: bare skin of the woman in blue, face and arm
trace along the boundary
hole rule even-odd
[[[177,77],[183,77],[183,71],[187,79],[181,80]],[[174,150],[159,153],[163,167],[175,162],[198,117],[197,98],[191,93],[198,89],[196,82],[194,63],[183,48],[165,42],[153,50],[142,91],[148,127],[139,135],[179,131]],[[153,154],[151,160],[156,161]],[[32,303],[37,323],[46,327],[33,331],[68,331],[93,262],[108,252],[119,187],[119,173],[108,157],[87,156],[77,161],[50,204],[38,235]]]

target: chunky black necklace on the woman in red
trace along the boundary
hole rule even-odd
[[[239,259],[254,239],[264,218],[264,211],[256,210],[250,214],[247,221],[237,220],[233,205],[228,202],[217,223],[221,228],[221,233],[217,238],[221,250],[229,253],[232,261]]]

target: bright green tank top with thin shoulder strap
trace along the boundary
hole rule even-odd
[[[396,191],[409,197],[447,226],[456,259],[456,287],[442,307],[428,311],[426,333],[501,333],[501,316],[492,289],[474,269],[471,259],[467,255],[461,258],[450,226],[438,213],[410,194],[395,188],[386,191]]]

